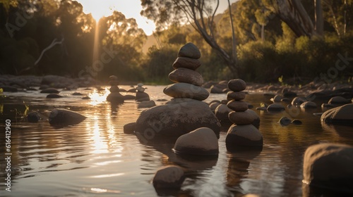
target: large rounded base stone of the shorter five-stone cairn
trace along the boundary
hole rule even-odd
[[[227,149],[237,146],[263,146],[263,135],[253,125],[232,125],[225,139]]]

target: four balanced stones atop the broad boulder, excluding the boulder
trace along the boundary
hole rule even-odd
[[[164,88],[164,94],[173,98],[192,98],[203,101],[210,93],[201,87],[203,77],[196,69],[201,66],[201,53],[195,44],[189,42],[181,47],[178,58],[173,63],[174,70],[169,73],[169,80],[175,82]]]

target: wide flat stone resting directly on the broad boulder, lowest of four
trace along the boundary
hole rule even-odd
[[[170,84],[163,89],[163,92],[173,98],[193,98],[198,101],[203,101],[210,96],[210,93],[203,87],[187,83]]]

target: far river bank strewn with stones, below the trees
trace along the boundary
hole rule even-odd
[[[135,85],[138,82],[120,82],[124,85]],[[107,82],[95,80],[92,77],[71,78],[57,75],[0,75],[0,88],[4,91],[25,91],[32,87],[56,88],[56,89],[77,89],[78,87],[99,87],[108,85]],[[205,82],[203,87],[211,89],[211,93],[226,93],[227,81],[222,82]],[[214,92],[212,89],[217,89]],[[333,82],[327,84],[325,82],[310,82],[302,85],[289,84],[259,84],[247,83],[246,91],[263,94],[282,94],[285,91],[293,91],[300,95],[311,94],[316,91],[335,91],[337,89],[346,89],[351,91],[353,89],[352,82]]]

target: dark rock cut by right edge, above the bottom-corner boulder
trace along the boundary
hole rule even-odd
[[[353,103],[325,111],[321,121],[333,125],[353,125]]]

